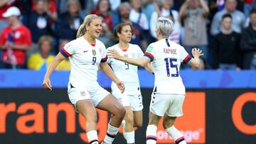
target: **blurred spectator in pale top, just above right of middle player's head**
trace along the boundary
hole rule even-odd
[[[129,19],[139,24],[143,30],[149,30],[149,22],[146,19],[146,15],[142,13],[142,2],[141,0],[131,0],[130,1],[132,9],[129,13]]]

